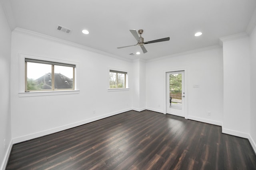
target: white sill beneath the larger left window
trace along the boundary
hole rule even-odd
[[[43,92],[21,92],[19,97],[31,97],[31,96],[52,96],[52,95],[64,95],[64,94],[79,94],[80,90],[60,90],[60,91],[43,91]]]

